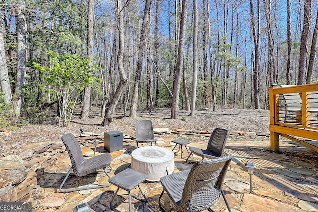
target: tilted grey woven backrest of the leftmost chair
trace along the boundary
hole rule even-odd
[[[73,172],[77,173],[77,168],[80,166],[81,161],[84,159],[83,153],[79,146],[79,142],[71,133],[66,133],[62,136],[62,141],[68,151],[72,163]]]

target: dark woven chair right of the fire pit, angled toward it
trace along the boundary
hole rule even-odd
[[[228,131],[221,128],[215,128],[212,132],[212,135],[210,137],[210,140],[208,142],[208,146],[206,149],[200,149],[196,147],[189,147],[189,150],[191,151],[188,159],[190,158],[191,154],[195,154],[202,157],[202,160],[206,157],[209,159],[215,159],[218,157],[225,156],[224,154],[224,148],[225,148],[225,142],[227,141],[228,137]]]

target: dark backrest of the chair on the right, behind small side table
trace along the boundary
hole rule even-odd
[[[228,130],[215,128],[211,134],[207,149],[212,151],[217,157],[221,157],[224,153],[227,138]]]

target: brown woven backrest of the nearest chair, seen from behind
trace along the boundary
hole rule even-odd
[[[217,202],[231,160],[228,155],[196,162],[185,182],[180,206],[185,210],[190,200],[193,211],[202,211]]]

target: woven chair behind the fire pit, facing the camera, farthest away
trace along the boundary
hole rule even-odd
[[[137,120],[136,121],[136,147],[138,143],[151,143],[157,145],[157,139],[154,138],[153,123],[150,120]]]

